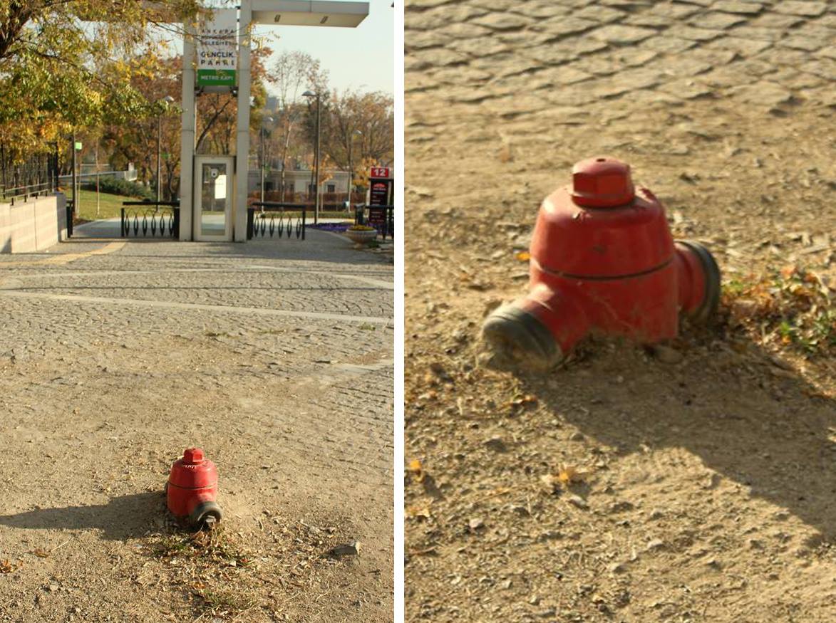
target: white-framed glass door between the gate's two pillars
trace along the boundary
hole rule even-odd
[[[195,158],[196,241],[232,241],[232,160],[232,156]]]

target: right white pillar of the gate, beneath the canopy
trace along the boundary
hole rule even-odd
[[[252,0],[241,0],[238,13],[238,120],[235,149],[235,241],[247,241],[247,185],[250,166],[250,28]]]

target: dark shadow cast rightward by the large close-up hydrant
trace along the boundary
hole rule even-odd
[[[711,495],[728,479],[742,485],[734,494],[740,499],[779,507],[776,524],[786,509],[816,529],[809,545],[836,538],[836,401],[754,343],[736,352],[726,342],[694,342],[683,352],[671,364],[618,347],[559,371],[516,376],[594,443],[621,458],[640,455],[623,473],[601,474],[616,496],[634,484],[670,487],[669,479],[691,475]],[[676,448],[707,469],[693,469],[686,456],[691,467],[683,474],[670,453]],[[709,470],[716,475],[708,478]]]

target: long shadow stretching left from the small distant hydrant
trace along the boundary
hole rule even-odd
[[[0,525],[18,529],[101,530],[104,539],[136,539],[161,529],[166,513],[162,491],[120,495],[107,504],[34,509],[0,515]]]

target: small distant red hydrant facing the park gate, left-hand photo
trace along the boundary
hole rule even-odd
[[[204,458],[200,448],[186,448],[171,466],[166,483],[166,502],[171,514],[198,527],[212,526],[222,519],[217,499],[217,468]]]

